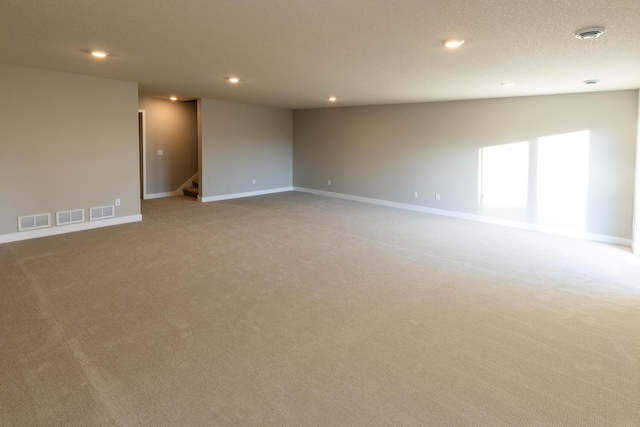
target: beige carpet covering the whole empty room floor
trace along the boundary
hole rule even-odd
[[[0,245],[2,426],[640,426],[628,248],[282,193]]]

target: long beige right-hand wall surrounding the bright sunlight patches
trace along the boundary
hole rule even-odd
[[[486,215],[481,148],[589,130],[584,231],[630,238],[637,109],[638,91],[619,91],[296,110],[294,185]],[[534,210],[491,216],[537,223]]]

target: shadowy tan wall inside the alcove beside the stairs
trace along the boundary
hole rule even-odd
[[[147,194],[175,191],[198,172],[196,101],[141,97],[138,107],[145,110]]]

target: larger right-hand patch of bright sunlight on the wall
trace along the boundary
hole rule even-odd
[[[589,131],[538,138],[538,221],[584,230],[589,187]]]

